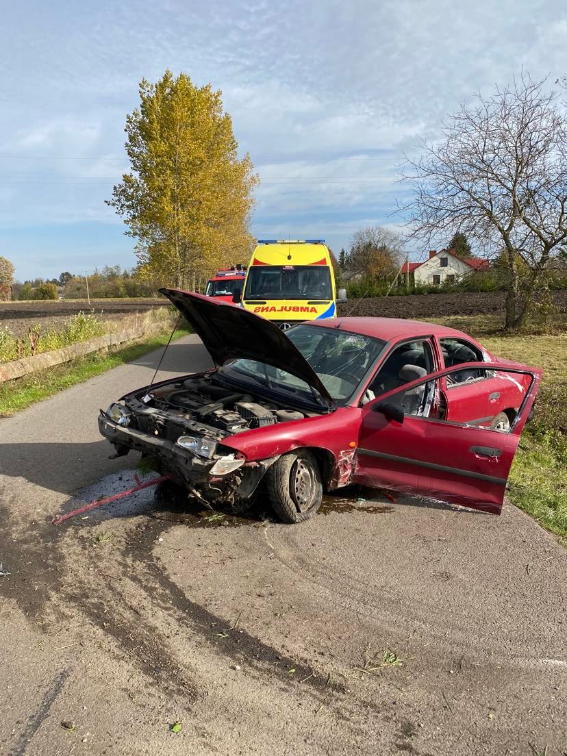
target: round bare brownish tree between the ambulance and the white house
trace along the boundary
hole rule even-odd
[[[380,278],[398,271],[404,257],[399,234],[380,226],[368,226],[352,237],[349,268],[367,277]]]

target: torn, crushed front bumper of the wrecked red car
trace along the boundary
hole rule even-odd
[[[268,467],[277,460],[277,457],[271,457],[245,462],[234,472],[218,476],[213,475],[211,470],[222,456],[212,459],[200,457],[166,438],[119,425],[102,410],[98,416],[98,429],[116,449],[117,456],[122,457],[133,450],[141,452],[145,457],[153,457],[159,464],[160,471],[171,472],[192,494],[207,501],[232,503],[249,498],[256,491]]]

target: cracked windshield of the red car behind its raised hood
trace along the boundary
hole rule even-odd
[[[345,403],[352,396],[386,345],[382,339],[360,333],[310,325],[290,328],[286,336],[296,345],[337,404]],[[320,401],[308,383],[263,362],[238,359],[222,367],[221,372],[234,380],[252,380],[269,389],[290,392],[304,401]]]

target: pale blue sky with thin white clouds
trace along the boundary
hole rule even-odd
[[[253,233],[339,250],[401,225],[395,166],[445,113],[522,66],[567,73],[567,5],[20,0],[3,4],[0,65],[0,255],[20,280],[135,264],[104,200],[138,82],[168,67],[222,90],[262,181]]]

